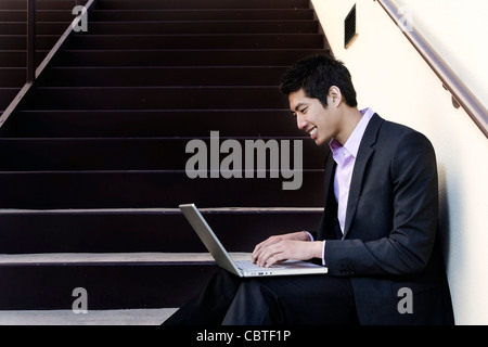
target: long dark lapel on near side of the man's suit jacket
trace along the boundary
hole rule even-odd
[[[377,114],[374,114],[370,119],[370,123],[368,124],[368,127],[361,140],[361,144],[359,145],[358,157],[355,162],[355,168],[350,181],[349,198],[347,201],[346,222],[344,227],[345,230],[343,239],[345,239],[349,233],[349,228],[356,215],[359,196],[361,195],[364,171],[367,169],[371,155],[374,153],[374,144],[376,142],[377,132],[382,123],[383,118],[381,118]]]

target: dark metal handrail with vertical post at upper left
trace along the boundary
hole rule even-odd
[[[76,0],[75,4],[79,5],[80,2],[81,2],[80,0]],[[85,7],[87,9],[90,9],[94,2],[97,2],[97,0],[89,0]],[[48,66],[48,64],[51,62],[53,56],[57,53],[60,48],[64,44],[64,42],[66,41],[68,36],[72,34],[72,31],[79,24],[80,21],[81,21],[80,17],[76,17],[69,24],[69,26],[66,28],[66,30],[63,33],[63,35],[57,40],[57,42],[50,50],[48,55],[46,55],[43,61],[36,68],[36,0],[27,0],[27,66],[26,66],[27,67],[27,76],[26,76],[26,82],[25,82],[24,87],[18,91],[16,97],[13,99],[13,101],[10,103],[10,105],[7,107],[7,110],[3,112],[3,114],[0,115],[0,128],[3,126],[3,124],[5,124],[7,119],[10,117],[10,115],[18,106],[22,99],[27,94],[27,92],[33,87],[36,78],[38,78],[39,75],[43,72],[43,69]]]

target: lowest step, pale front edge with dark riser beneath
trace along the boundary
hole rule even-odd
[[[217,269],[208,253],[0,255],[0,311],[180,307]]]

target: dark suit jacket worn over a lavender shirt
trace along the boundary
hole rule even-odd
[[[318,240],[326,240],[330,275],[350,277],[362,324],[453,324],[438,242],[436,156],[422,133],[375,114],[364,132],[349,190],[343,240],[333,229],[335,162],[325,162],[325,208]],[[413,293],[413,313],[400,300]],[[403,301],[406,303],[406,301]]]

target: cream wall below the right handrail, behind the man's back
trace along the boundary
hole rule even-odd
[[[455,321],[488,324],[488,139],[462,108],[452,106],[441,81],[376,1],[312,3],[334,55],[352,74],[359,106],[418,129],[434,143]],[[346,50],[344,18],[355,3],[359,35]],[[484,44],[476,37],[471,40]],[[457,68],[463,68],[460,56],[455,59]],[[476,75],[465,78],[479,92],[485,79],[478,82],[481,75]]]

